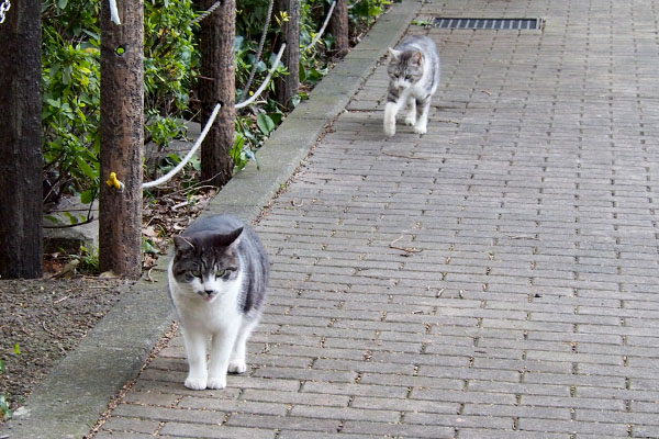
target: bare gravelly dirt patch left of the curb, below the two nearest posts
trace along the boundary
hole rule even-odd
[[[7,395],[12,410],[129,286],[124,280],[90,277],[0,280],[0,360],[5,363],[0,395]]]

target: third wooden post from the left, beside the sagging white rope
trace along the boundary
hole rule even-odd
[[[215,0],[202,0],[208,10]],[[235,34],[236,2],[222,5],[201,21],[201,98],[202,126],[220,102],[222,110],[201,144],[201,179],[222,187],[231,180],[234,161],[235,104]]]

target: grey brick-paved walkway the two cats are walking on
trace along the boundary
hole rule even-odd
[[[380,65],[258,224],[250,369],[182,386],[176,337],[97,439],[659,437],[657,1],[435,1],[543,16],[432,36],[420,137]]]

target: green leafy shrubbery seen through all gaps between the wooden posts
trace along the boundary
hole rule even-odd
[[[351,30],[372,24],[390,0],[351,1]],[[303,0],[301,44],[308,45],[320,30],[331,1]],[[190,95],[197,87],[200,63],[197,16],[191,0],[146,0],[144,3],[145,139],[166,148],[172,138],[186,136],[185,120],[196,114]],[[256,64],[255,90],[272,65],[281,16],[267,31],[264,53],[257,57],[268,0],[238,0],[236,4],[236,89],[239,93]],[[91,202],[100,182],[100,3],[92,0],[44,0],[43,21],[43,139],[46,201],[81,194]],[[327,72],[326,33],[312,50],[301,55],[300,78],[313,86]],[[277,75],[286,75],[280,67]],[[273,85],[268,91],[273,91]],[[305,97],[301,90],[299,102]],[[283,119],[281,106],[264,94],[259,104],[236,119],[232,156],[242,169],[264,139]]]

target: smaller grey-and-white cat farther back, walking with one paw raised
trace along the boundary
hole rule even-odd
[[[396,48],[389,48],[391,61],[389,74],[389,95],[384,108],[384,134],[395,134],[395,115],[407,104],[407,125],[414,125],[414,133],[425,134],[428,123],[431,98],[439,85],[439,52],[427,36],[405,37]]]

